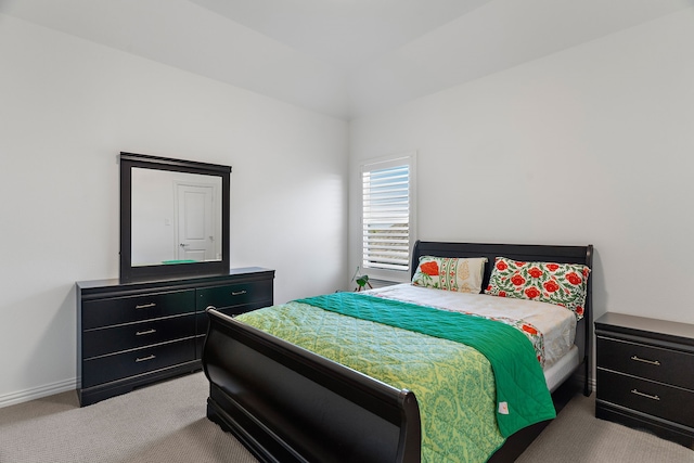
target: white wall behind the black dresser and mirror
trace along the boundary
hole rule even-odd
[[[232,267],[275,269],[282,303],[347,280],[346,146],[342,120],[0,15],[0,406],[75,387],[120,151],[231,165]]]

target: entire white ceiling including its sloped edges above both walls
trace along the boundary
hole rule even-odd
[[[0,0],[0,13],[350,119],[694,0]]]

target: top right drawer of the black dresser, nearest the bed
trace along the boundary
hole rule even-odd
[[[197,310],[224,309],[247,304],[272,304],[272,280],[235,283],[197,290]],[[261,306],[260,306],[261,307]],[[247,310],[244,310],[247,311]]]

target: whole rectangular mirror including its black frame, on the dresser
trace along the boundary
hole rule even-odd
[[[120,280],[229,271],[231,167],[120,153]]]

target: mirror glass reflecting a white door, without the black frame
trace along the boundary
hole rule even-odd
[[[132,168],[132,267],[222,259],[221,177]]]

